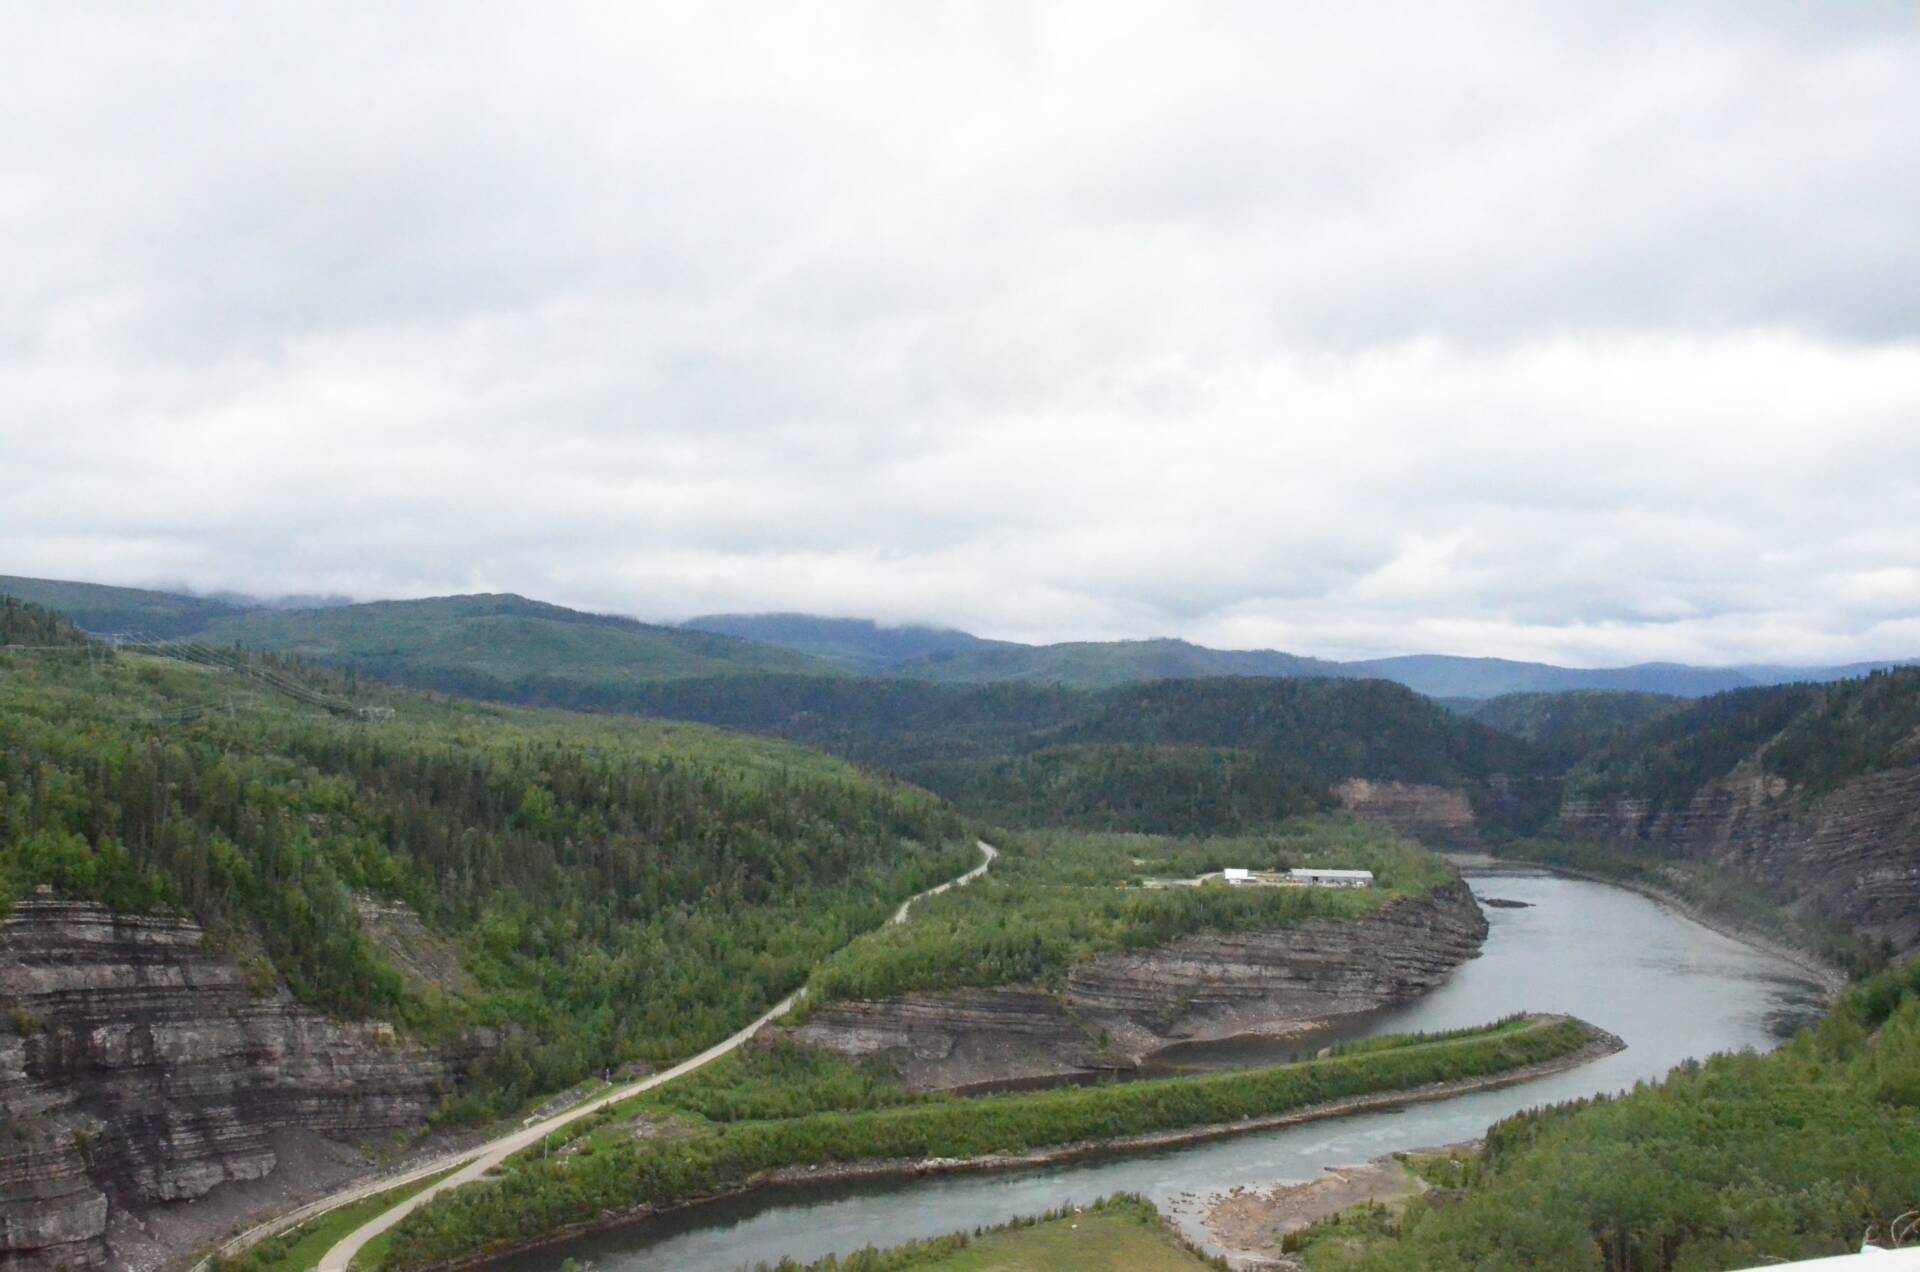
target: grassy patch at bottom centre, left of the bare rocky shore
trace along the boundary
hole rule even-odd
[[[862,1249],[818,1262],[756,1264],[755,1272],[989,1272],[1010,1268],[1073,1268],[1075,1272],[1204,1272],[1227,1270],[1162,1218],[1137,1193],[1114,1193],[1085,1207],[1060,1207],[972,1234],[956,1232],[889,1249]]]

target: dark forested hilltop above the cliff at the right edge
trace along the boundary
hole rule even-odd
[[[1569,795],[1676,807],[1747,761],[1811,794],[1920,763],[1920,667],[1703,699],[1590,757]]]

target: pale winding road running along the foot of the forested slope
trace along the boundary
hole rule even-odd
[[[893,922],[906,922],[906,915],[908,915],[908,911],[914,909],[914,901],[920,901],[920,899],[931,897],[931,895],[939,895],[939,893],[947,892],[948,888],[964,888],[964,886],[972,884],[975,878],[979,878],[981,874],[985,874],[987,867],[993,865],[993,859],[998,857],[1000,851],[996,847],[993,847],[991,844],[987,844],[985,840],[975,840],[975,847],[979,847],[979,857],[981,857],[977,867],[973,867],[972,870],[968,870],[966,874],[962,874],[958,878],[947,880],[939,888],[927,888],[925,892],[914,893],[906,901],[900,901],[900,909],[893,911],[893,918],[889,918],[887,922],[889,924],[893,924]],[[449,1155],[440,1157],[436,1161],[430,1161],[430,1162],[426,1162],[422,1166],[415,1166],[413,1170],[407,1170],[403,1174],[384,1176],[384,1178],[374,1180],[371,1184],[357,1184],[357,1186],[353,1186],[349,1189],[344,1189],[344,1191],[332,1193],[328,1197],[323,1197],[319,1201],[307,1203],[307,1205],[300,1207],[298,1211],[290,1211],[288,1214],[282,1214],[282,1216],[273,1218],[273,1220],[269,1220],[265,1224],[250,1228],[248,1232],[242,1232],[240,1235],[236,1235],[230,1241],[227,1241],[225,1245],[221,1245],[217,1253],[223,1255],[223,1257],[238,1255],[238,1253],[246,1251],[248,1247],[255,1245],[257,1241],[265,1241],[267,1237],[271,1237],[275,1234],[280,1234],[280,1232],[286,1232],[288,1228],[292,1228],[296,1224],[301,1224],[301,1222],[305,1222],[309,1218],[315,1218],[315,1216],[324,1214],[328,1211],[336,1211],[336,1209],[340,1209],[344,1205],[353,1205],[355,1201],[365,1201],[367,1197],[372,1197],[376,1193],[384,1193],[384,1191],[394,1189],[394,1187],[403,1187],[403,1186],[413,1184],[417,1180],[424,1180],[424,1178],[436,1176],[436,1174],[440,1174],[444,1170],[453,1170],[455,1166],[459,1166],[457,1170],[453,1170],[453,1174],[449,1174],[447,1178],[440,1180],[438,1184],[434,1184],[430,1187],[422,1187],[415,1195],[411,1195],[405,1201],[394,1205],[390,1211],[384,1211],[384,1212],[376,1214],[374,1218],[367,1220],[365,1224],[361,1224],[359,1228],[355,1228],[353,1232],[349,1232],[332,1249],[328,1249],[321,1257],[321,1262],[317,1264],[319,1272],[346,1272],[348,1266],[353,1262],[353,1257],[359,1255],[361,1249],[369,1241],[372,1241],[376,1235],[380,1235],[382,1232],[386,1232],[388,1228],[392,1228],[399,1220],[407,1218],[415,1211],[415,1207],[424,1205],[426,1201],[438,1197],[440,1193],[447,1191],[449,1187],[461,1187],[463,1184],[472,1184],[482,1174],[486,1174],[493,1166],[499,1166],[503,1161],[507,1161],[509,1157],[513,1157],[520,1149],[526,1149],[526,1147],[532,1147],[532,1145],[540,1143],[543,1137],[551,1136],[553,1132],[561,1130],[563,1126],[566,1126],[570,1122],[576,1122],[576,1120],[580,1120],[580,1118],[584,1118],[588,1114],[599,1113],[607,1105],[614,1105],[614,1103],[620,1103],[622,1099],[630,1099],[634,1095],[639,1095],[641,1091],[651,1091],[653,1088],[662,1086],[666,1082],[672,1082],[674,1078],[684,1078],[685,1074],[691,1074],[697,1068],[705,1068],[707,1064],[712,1064],[722,1055],[737,1051],[739,1045],[745,1043],[755,1034],[758,1034],[760,1028],[766,1026],[768,1020],[774,1020],[774,1018],[783,1016],[789,1011],[793,1011],[793,1005],[799,1003],[804,993],[806,993],[804,988],[795,990],[787,997],[783,997],[778,1003],[774,1003],[766,1013],[760,1015],[758,1020],[755,1020],[753,1024],[749,1024],[741,1032],[733,1034],[732,1038],[728,1038],[724,1041],[714,1043],[712,1047],[707,1047],[705,1051],[701,1051],[699,1055],[695,1055],[691,1059],[680,1061],[672,1068],[660,1070],[660,1072],[651,1074],[647,1078],[641,1078],[637,1082],[630,1082],[630,1084],[626,1084],[622,1088],[614,1088],[611,1091],[605,1091],[603,1095],[595,1095],[593,1099],[578,1103],[572,1109],[566,1109],[564,1113],[557,1113],[551,1118],[545,1118],[545,1120],[540,1120],[540,1122],[532,1122],[532,1124],[522,1126],[520,1130],[509,1132],[509,1134],[505,1134],[505,1136],[501,1136],[497,1139],[488,1139],[486,1143],[480,1143],[480,1145],[474,1145],[474,1147],[468,1147],[468,1149],[461,1149],[459,1153],[449,1153]],[[205,1272],[205,1266],[207,1266],[207,1260],[202,1260],[200,1264],[194,1266],[194,1272]]]

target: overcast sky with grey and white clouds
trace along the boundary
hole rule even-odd
[[[0,8],[0,573],[1920,655],[1914,4]]]

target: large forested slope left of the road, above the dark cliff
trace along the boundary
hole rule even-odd
[[[75,648],[0,655],[0,895],[184,913],[259,984],[472,1040],[459,1113],[718,1041],[977,863],[937,797],[787,744]]]

